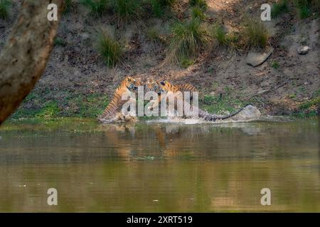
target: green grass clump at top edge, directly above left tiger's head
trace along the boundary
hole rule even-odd
[[[139,13],[142,11],[139,0],[114,0],[113,8],[120,23],[139,19]]]

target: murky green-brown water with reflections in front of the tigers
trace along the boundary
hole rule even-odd
[[[11,121],[0,136],[0,211],[320,211],[317,119]]]

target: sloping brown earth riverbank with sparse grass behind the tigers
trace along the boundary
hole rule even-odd
[[[0,50],[21,3],[13,2],[9,17],[0,18]],[[266,22],[267,47],[274,50],[265,62],[252,67],[246,63],[251,50],[233,45],[242,43],[247,18],[259,20],[264,1],[206,1],[201,25],[210,32],[219,24],[225,44],[215,37],[197,55],[170,64],[164,60],[174,39],[173,28],[193,16],[189,1],[166,6],[161,15],[151,13],[146,4],[139,18],[122,24],[114,20],[117,13],[113,11],[92,16],[86,5],[71,2],[61,18],[46,72],[11,118],[95,118],[127,75],[193,84],[200,92],[201,107],[214,114],[228,114],[248,103],[262,114],[302,118],[317,114],[319,13],[313,8],[302,18],[297,6],[288,1],[287,11]],[[112,68],[105,65],[97,48],[99,34],[105,30],[112,31],[123,50]],[[310,50],[300,55],[297,50],[304,45]]]

